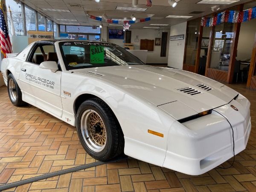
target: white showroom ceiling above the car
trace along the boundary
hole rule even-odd
[[[100,0],[96,3],[95,0],[21,0],[29,7],[43,13],[58,24],[67,25],[87,25],[99,26],[99,21],[87,17],[87,14],[96,17],[101,17],[103,13],[112,20],[131,20],[131,15],[134,14],[137,19],[151,17],[150,21],[143,23],[132,24],[133,29],[142,29],[143,27],[160,27],[160,29],[168,29],[170,26],[192,20],[204,15],[212,14],[211,7],[220,6],[220,10],[236,6],[250,0],[240,0],[232,4],[223,5],[223,1],[217,0],[215,4],[198,3],[201,0],[176,0],[177,6],[169,6],[168,0],[151,0],[152,6],[146,6],[146,0],[138,0],[138,5],[133,6],[133,0]],[[212,0],[215,2],[216,0]],[[145,11],[128,11],[118,10],[129,8],[144,8]],[[58,10],[56,10],[58,9]],[[192,13],[199,12],[199,13]],[[201,12],[201,13],[200,13]],[[175,16],[190,16],[190,18],[167,18],[168,15]],[[103,23],[103,26],[108,26],[110,23]],[[156,26],[150,24],[157,24]],[[166,24],[167,26],[158,26],[158,24]],[[122,28],[119,25],[111,25],[112,27]]]

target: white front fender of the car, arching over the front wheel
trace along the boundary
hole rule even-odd
[[[166,150],[169,128],[175,121],[172,116],[132,91],[110,81],[69,73],[63,73],[61,80],[61,95],[66,97],[62,100],[64,111],[76,116],[73,111],[76,99],[83,94],[94,95],[111,108],[125,137]],[[76,79],[76,82],[70,79]],[[70,96],[65,95],[64,91],[70,93]],[[162,138],[149,134],[148,130],[164,136]]]

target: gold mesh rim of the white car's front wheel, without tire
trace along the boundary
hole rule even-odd
[[[105,148],[107,135],[101,116],[93,110],[86,110],[81,116],[81,134],[84,142],[94,152]]]

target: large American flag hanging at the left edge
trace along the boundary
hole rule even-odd
[[[0,7],[0,49],[3,53],[4,57],[6,58],[6,53],[12,53],[12,45],[8,34],[8,29],[6,26],[6,22],[3,16],[2,7]]]

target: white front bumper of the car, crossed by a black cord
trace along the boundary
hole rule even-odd
[[[235,105],[239,111],[233,110]],[[218,113],[216,112],[218,111]],[[201,175],[245,149],[251,130],[250,102],[246,98],[214,109],[212,114],[180,124],[175,122],[168,135],[163,167],[188,175]]]

